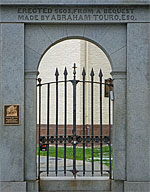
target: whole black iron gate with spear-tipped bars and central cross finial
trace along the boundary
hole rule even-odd
[[[102,85],[108,85],[109,86],[109,93],[110,93],[110,86],[112,84],[107,84],[102,82],[102,71],[100,70],[99,73],[99,82],[94,81],[94,70],[92,68],[90,76],[91,80],[86,81],[85,80],[85,69],[83,68],[82,71],[82,81],[76,80],[76,65],[74,64],[73,67],[73,80],[67,80],[67,69],[64,70],[64,81],[58,80],[58,69],[56,68],[55,76],[56,81],[55,82],[49,82],[49,83],[41,83],[41,79],[38,79],[38,87],[39,87],[39,166],[38,166],[38,177],[40,178],[40,173],[45,171],[40,171],[40,151],[42,150],[43,146],[46,145],[47,150],[47,176],[49,175],[49,172],[55,172],[56,176],[58,172],[64,172],[64,175],[66,176],[67,171],[71,171],[76,177],[77,172],[83,172],[83,176],[85,176],[86,172],[92,172],[92,176],[94,176],[95,172],[100,172],[101,175],[103,175],[103,172],[108,172],[110,179],[112,177],[112,167],[111,167],[111,100],[109,95],[109,136],[103,136],[103,126],[102,126]],[[71,82],[73,86],[73,130],[72,135],[67,135],[67,83]],[[82,83],[82,89],[83,89],[83,135],[79,136],[76,135],[76,87],[78,83]],[[64,136],[58,135],[58,84],[64,83]],[[86,136],[85,134],[85,83],[91,84],[91,136]],[[50,85],[55,84],[56,85],[56,134],[55,136],[51,136],[49,134],[49,126],[50,126]],[[100,85],[100,135],[95,136],[94,135],[94,84]],[[41,136],[41,87],[43,85],[47,85],[47,136]],[[73,170],[68,170],[66,167],[66,148],[67,143],[73,145]],[[76,169],[76,146],[77,144],[83,145],[83,170],[77,170]],[[92,170],[85,170],[85,145],[91,143],[91,154],[92,154]],[[49,168],[49,145],[53,144],[55,145],[55,170]],[[58,169],[58,144],[64,144],[64,169],[59,170]],[[100,145],[100,169],[95,170],[94,168],[94,145]],[[103,144],[107,144],[109,146],[109,170],[103,170]]]

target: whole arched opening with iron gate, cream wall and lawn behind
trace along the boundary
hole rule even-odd
[[[113,82],[106,54],[89,41],[65,40],[45,53],[38,71],[38,177],[112,178]]]

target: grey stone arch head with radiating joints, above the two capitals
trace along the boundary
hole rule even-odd
[[[26,25],[25,35],[28,37],[25,38],[25,70],[37,70],[40,58],[48,47],[64,39],[80,37],[90,40],[104,50],[110,59],[113,71],[126,71],[126,27],[124,25],[86,25],[85,28],[81,25],[75,25],[73,28],[72,26],[41,25],[40,28],[43,30],[41,32],[41,29],[36,30],[38,27],[34,25]],[[120,32],[117,34],[117,31]],[[42,40],[44,37],[41,38],[43,33],[46,40]],[[36,43],[32,43],[34,40]]]

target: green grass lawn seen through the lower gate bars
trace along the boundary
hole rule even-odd
[[[49,156],[50,157],[55,157],[55,147],[50,146],[49,147]],[[37,155],[39,153],[39,148],[37,147]],[[40,152],[41,156],[46,156],[47,152],[41,151]],[[111,156],[112,156],[112,146],[111,146]],[[58,147],[58,157],[59,158],[64,158],[64,147]],[[95,147],[94,148],[94,161],[100,161],[100,148]],[[73,147],[67,147],[66,148],[66,158],[67,159],[73,159]],[[91,162],[92,158],[92,149],[90,148],[85,148],[85,160],[88,162]],[[76,160],[83,160],[83,148],[82,147],[77,147],[76,148]],[[109,147],[104,146],[103,147],[103,163],[107,166],[109,166]]]

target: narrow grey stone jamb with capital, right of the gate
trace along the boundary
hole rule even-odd
[[[112,77],[114,84],[112,189],[114,192],[123,192],[126,179],[126,72],[112,72]]]

